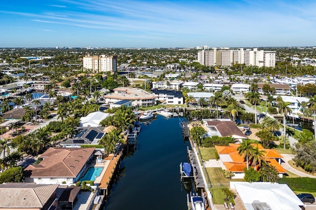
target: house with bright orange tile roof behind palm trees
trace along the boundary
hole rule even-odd
[[[255,143],[252,145],[254,147],[258,147],[259,150],[266,151],[264,154],[265,161],[276,168],[276,171],[280,177],[282,177],[283,174],[286,173],[286,170],[280,165],[281,158],[283,156],[280,155],[275,149],[265,149],[262,147],[262,145]],[[238,154],[238,146],[239,144],[231,143],[229,146],[215,146],[215,148],[226,170],[229,172],[233,172],[235,175],[234,178],[243,178],[243,170],[247,167],[247,163],[243,156]],[[252,167],[250,166],[250,160],[248,164],[249,167]],[[259,166],[257,165],[257,168],[258,167]]]

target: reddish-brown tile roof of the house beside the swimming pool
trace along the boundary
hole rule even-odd
[[[40,157],[39,165],[30,165],[24,172],[27,177],[76,177],[89,157],[92,148],[49,148]]]

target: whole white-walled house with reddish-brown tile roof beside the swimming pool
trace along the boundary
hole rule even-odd
[[[42,155],[38,165],[24,169],[25,182],[37,184],[73,184],[85,171],[94,155],[92,148],[50,147]]]

